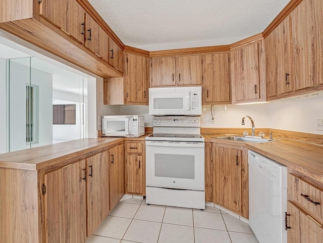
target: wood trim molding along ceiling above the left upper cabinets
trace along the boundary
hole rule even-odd
[[[93,6],[87,0],[77,0],[77,2],[92,16],[92,18],[109,34],[109,36],[124,49],[125,44],[110,28],[110,26],[103,20],[103,18],[96,12]]]

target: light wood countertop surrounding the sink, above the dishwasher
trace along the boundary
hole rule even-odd
[[[229,134],[202,134],[205,142],[230,143],[235,145],[245,144],[245,147],[261,155],[273,159],[283,165],[301,172],[312,172],[323,176],[323,146],[297,140],[274,137],[281,140],[252,143],[241,141],[222,140],[213,137],[227,136]],[[230,134],[232,135],[232,134]],[[242,145],[240,145],[242,146]],[[301,167],[301,168],[300,168]]]

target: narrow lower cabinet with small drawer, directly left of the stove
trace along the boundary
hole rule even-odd
[[[145,195],[145,142],[125,141],[126,147],[126,193]]]

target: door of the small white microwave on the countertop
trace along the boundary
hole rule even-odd
[[[103,136],[121,136],[129,134],[129,118],[102,118]]]

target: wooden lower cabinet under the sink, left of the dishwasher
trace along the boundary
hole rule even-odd
[[[216,143],[214,203],[249,218],[247,149]]]

